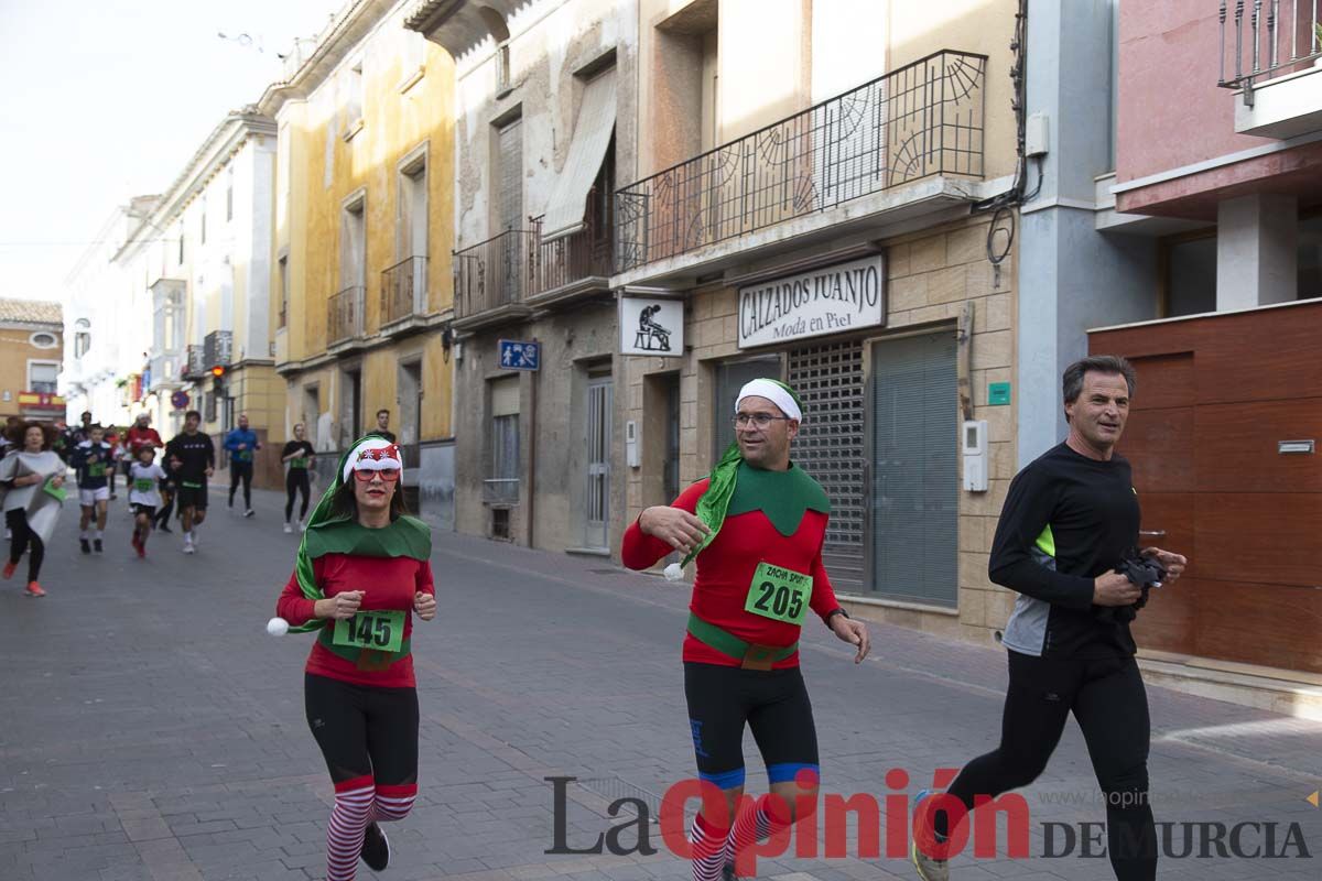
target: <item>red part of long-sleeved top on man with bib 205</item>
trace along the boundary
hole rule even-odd
[[[697,511],[698,499],[707,491],[707,483],[709,481],[703,478],[686,489],[674,501],[674,507],[690,514]],[[829,516],[820,511],[805,511],[798,530],[785,538],[761,511],[727,516],[720,532],[697,557],[698,573],[693,581],[689,610],[744,642],[761,646],[792,645],[798,639],[801,626],[746,612],[744,602],[758,564],[771,563],[813,576],[813,593],[808,605],[822,621],[838,609],[839,602],[836,601],[836,592],[822,564],[822,542],[826,539],[828,519]],[[661,539],[645,535],[635,520],[624,532],[620,557],[631,569],[646,569],[672,551],[674,548]],[[683,659],[723,667],[738,667],[743,660],[717,651],[693,634],[685,634]],[[773,668],[797,666],[796,651],[773,664]]]

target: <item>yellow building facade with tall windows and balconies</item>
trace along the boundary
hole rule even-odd
[[[403,26],[407,5],[346,7],[262,96],[278,128],[270,320],[282,437],[304,423],[341,450],[390,411],[410,501],[449,526],[455,81]]]

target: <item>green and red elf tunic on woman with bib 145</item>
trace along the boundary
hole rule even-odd
[[[370,439],[371,436],[369,436]],[[368,440],[368,439],[365,439]],[[365,444],[360,441],[356,450]],[[377,444],[366,444],[375,448]],[[381,444],[385,449],[385,442]],[[414,594],[435,594],[431,563],[431,530],[411,516],[397,518],[383,528],[366,528],[352,518],[330,518],[330,498],[352,473],[348,453],[308,520],[299,547],[299,560],[276,601],[276,614],[291,630],[317,630],[308,655],[307,672],[341,682],[386,688],[416,687],[410,638]],[[336,645],[334,622],[315,617],[317,600],[342,590],[362,590],[360,614],[402,613],[403,638],[398,651]]]

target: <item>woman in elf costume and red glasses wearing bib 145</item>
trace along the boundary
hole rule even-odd
[[[375,435],[345,453],[308,520],[279,618],[267,626],[272,634],[320,630],[304,701],[336,793],[328,881],[352,881],[360,856],[386,868],[390,845],[377,823],[403,819],[418,795],[410,613],[431,621],[436,592],[431,531],[403,515],[402,469],[399,448]]]

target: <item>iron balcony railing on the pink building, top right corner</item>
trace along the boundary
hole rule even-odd
[[[1255,79],[1294,73],[1322,58],[1322,0],[1220,1],[1223,88],[1252,95]],[[1252,104],[1252,100],[1248,100]]]

